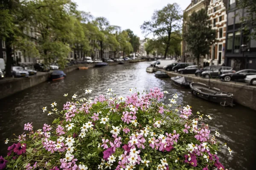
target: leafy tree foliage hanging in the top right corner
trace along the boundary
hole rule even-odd
[[[241,29],[242,31],[244,31],[245,34],[249,34],[250,27],[256,26],[256,2],[255,0],[240,0],[238,1],[238,8],[244,8],[244,16],[241,17]],[[250,39],[256,40],[256,28],[251,31]]]

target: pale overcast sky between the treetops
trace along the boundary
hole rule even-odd
[[[122,30],[131,29],[141,39],[144,35],[140,26],[150,20],[155,10],[168,3],[178,3],[182,10],[191,0],[73,0],[80,11],[90,12],[94,17],[105,17],[111,25]]]

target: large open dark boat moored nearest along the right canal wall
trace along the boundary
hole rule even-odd
[[[192,89],[192,94],[201,99],[219,103],[221,106],[233,106],[234,96],[231,93],[223,92],[218,88],[209,87],[200,82],[192,82],[190,88]]]

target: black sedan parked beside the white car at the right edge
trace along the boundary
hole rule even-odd
[[[256,70],[246,69],[246,70],[240,70],[236,73],[226,73],[221,74],[220,78],[221,80],[224,80],[225,82],[229,82],[230,80],[244,80],[246,76],[254,75],[256,74]]]

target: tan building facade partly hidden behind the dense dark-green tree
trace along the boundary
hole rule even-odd
[[[210,0],[191,0],[191,3],[189,6],[183,11],[184,12],[184,17],[183,17],[183,34],[188,31],[188,26],[187,22],[189,19],[189,16],[195,11],[199,11],[201,9],[206,9],[209,6]],[[182,40],[182,45],[181,45],[181,61],[182,62],[196,62],[197,59],[188,51],[186,41]],[[205,57],[200,58],[200,64],[202,65],[204,62]]]

